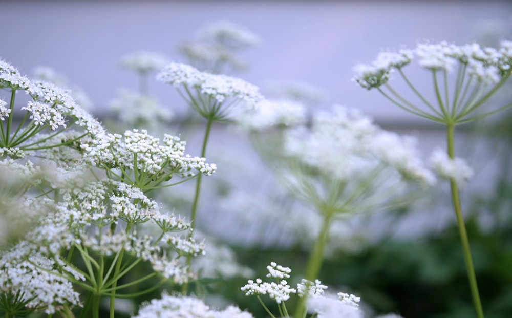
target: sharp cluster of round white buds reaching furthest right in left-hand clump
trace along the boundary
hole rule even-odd
[[[82,143],[86,160],[98,166],[119,167],[123,173],[133,171],[139,174],[136,178],[142,177],[146,182],[162,178],[166,181],[174,173],[191,176],[191,169],[210,176],[217,169],[215,164],[206,163],[205,158],[185,155],[186,142],[179,137],[165,134],[163,145],[147,130],[126,131],[122,137],[106,134]]]

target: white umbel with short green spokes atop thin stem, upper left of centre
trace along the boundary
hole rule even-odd
[[[217,121],[231,117],[230,112],[252,109],[263,99],[258,87],[242,79],[200,72],[181,63],[167,65],[157,75],[157,80],[178,88],[195,111]]]

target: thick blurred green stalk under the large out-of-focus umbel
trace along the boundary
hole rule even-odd
[[[318,274],[320,272],[320,269],[322,268],[322,263],[324,261],[324,248],[329,237],[329,226],[331,225],[333,213],[328,211],[328,213],[323,214],[323,216],[324,221],[322,223],[322,228],[320,230],[320,233],[318,234],[318,238],[316,239],[315,245],[313,246],[313,250],[309,254],[304,274],[304,278],[311,282],[314,282],[318,278]],[[304,317],[305,314],[306,297],[301,297],[297,301],[297,306],[295,307],[295,314],[293,315],[293,317],[300,318]]]

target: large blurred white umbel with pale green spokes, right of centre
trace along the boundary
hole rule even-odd
[[[285,132],[276,168],[297,198],[323,213],[386,209],[434,175],[419,159],[415,140],[383,131],[360,112],[335,106],[313,115],[311,127]]]

